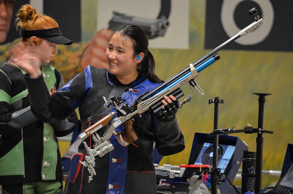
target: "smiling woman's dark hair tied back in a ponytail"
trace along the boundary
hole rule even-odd
[[[127,25],[123,26],[118,30],[118,32],[128,38],[133,42],[133,57],[136,57],[139,53],[144,53],[144,58],[137,65],[137,71],[143,72],[146,74],[149,81],[153,83],[163,82],[155,74],[155,60],[151,52],[149,52],[149,39],[147,34],[136,25]]]

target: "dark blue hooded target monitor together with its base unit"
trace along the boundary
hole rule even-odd
[[[241,165],[243,150],[247,150],[248,147],[238,137],[230,135],[219,135],[218,137],[218,168],[221,171],[219,177],[221,184],[218,185],[218,189],[221,193],[229,193],[231,185],[227,180],[229,178],[233,182]],[[210,134],[194,134],[188,165],[208,164],[212,166],[213,139],[214,136]],[[187,178],[200,173],[202,172],[199,172],[198,168],[187,167],[182,177],[175,177],[171,182],[171,192],[188,192],[189,183],[186,181]]]

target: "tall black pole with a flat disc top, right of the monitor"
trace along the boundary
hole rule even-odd
[[[263,129],[264,110],[265,110],[265,96],[270,93],[253,93],[259,96],[258,98],[258,130]],[[263,166],[263,133],[258,132],[256,137],[256,169],[255,169],[255,194],[261,193],[261,179]]]

